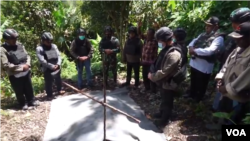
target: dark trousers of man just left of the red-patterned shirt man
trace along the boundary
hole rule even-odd
[[[127,78],[126,83],[130,84],[132,69],[134,70],[135,86],[139,86],[140,63],[127,63]]]

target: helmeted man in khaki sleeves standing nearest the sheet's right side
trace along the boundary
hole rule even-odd
[[[173,44],[173,32],[168,27],[160,28],[156,34],[159,48],[162,48],[156,61],[151,66],[148,78],[160,87],[162,102],[159,112],[153,117],[159,127],[165,126],[172,113],[174,95],[178,85],[185,80],[185,72],[182,72],[182,50]]]

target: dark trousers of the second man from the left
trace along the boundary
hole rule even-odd
[[[45,91],[46,91],[47,96],[53,95],[52,86],[53,86],[54,80],[55,80],[55,84],[57,87],[57,91],[60,92],[62,90],[61,71],[58,72],[55,76],[52,76],[50,71],[45,71],[44,80],[45,80]]]

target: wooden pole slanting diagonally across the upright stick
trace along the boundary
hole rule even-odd
[[[91,95],[81,92],[80,90],[78,90],[77,88],[75,88],[74,86],[72,86],[72,85],[70,85],[70,84],[68,84],[68,83],[66,83],[66,82],[62,82],[62,83],[63,83],[64,85],[68,86],[69,88],[73,89],[74,91],[76,91],[76,92],[78,92],[78,93],[81,93],[81,94],[85,95],[85,96],[88,97],[89,99],[92,99],[93,101],[95,101],[95,102],[97,102],[97,103],[100,103],[101,105],[106,106],[106,107],[112,109],[112,110],[115,111],[115,112],[118,112],[118,113],[120,113],[120,114],[123,114],[123,115],[125,115],[125,116],[127,116],[127,117],[129,117],[129,118],[131,118],[131,119],[133,119],[133,120],[135,120],[137,123],[140,123],[140,122],[141,122],[139,119],[137,119],[137,118],[135,118],[135,117],[133,117],[133,116],[131,116],[131,115],[129,115],[129,114],[127,114],[127,113],[125,113],[125,112],[123,112],[123,111],[121,111],[121,110],[119,110],[119,109],[117,109],[117,108],[115,108],[115,107],[113,107],[113,106],[107,104],[107,103],[104,103],[104,102],[102,102],[102,101],[96,100],[96,99],[93,98]]]

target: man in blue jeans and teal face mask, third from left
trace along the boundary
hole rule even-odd
[[[87,86],[93,87],[91,79],[92,72],[91,72],[91,62],[90,62],[93,51],[94,49],[90,41],[86,38],[85,29],[79,28],[77,30],[77,37],[75,38],[75,40],[72,41],[70,47],[70,53],[76,59],[76,65],[78,71],[77,83],[79,89],[83,88],[82,84],[83,67],[85,67],[86,70]]]

